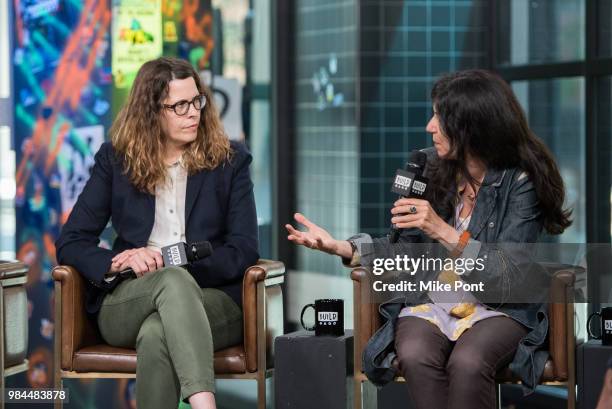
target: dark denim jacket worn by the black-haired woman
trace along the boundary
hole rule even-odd
[[[428,164],[439,160],[433,148],[424,150]],[[427,166],[425,168],[425,175]],[[485,269],[472,272],[469,279],[486,282],[489,286],[502,286],[498,272],[503,254],[495,250],[492,243],[535,243],[542,231],[542,220],[538,209],[533,183],[520,169],[489,169],[478,193],[468,230],[471,239],[464,255],[485,257]],[[368,235],[360,234],[351,238],[360,253],[361,244],[372,242]],[[427,243],[432,240],[420,230],[402,231],[400,242]],[[388,245],[387,238],[374,239],[374,243]],[[484,253],[484,254],[483,254]],[[365,254],[361,254],[362,260]],[[517,270],[517,274],[520,274]],[[520,278],[519,278],[520,279]],[[395,299],[381,304],[379,311],[383,317],[382,327],[368,341],[363,352],[363,368],[368,379],[376,386],[383,386],[396,375],[393,366],[395,359],[395,324],[400,310],[407,305],[405,299]],[[522,380],[524,392],[533,392],[544,371],[548,359],[546,339],[548,314],[546,304],[498,304],[496,310],[505,313],[525,325],[530,331],[520,341],[510,369]]]

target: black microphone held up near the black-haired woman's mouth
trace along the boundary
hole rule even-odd
[[[427,191],[429,180],[423,176],[423,169],[427,163],[425,152],[414,150],[410,153],[410,159],[404,169],[398,169],[391,186],[391,191],[397,193],[401,198],[423,199]],[[401,229],[391,226],[389,231],[389,242],[397,243]]]

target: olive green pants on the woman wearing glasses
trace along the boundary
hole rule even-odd
[[[240,307],[180,267],[120,283],[104,297],[98,326],[110,345],[136,348],[136,400],[147,409],[214,392],[213,351],[242,342]]]

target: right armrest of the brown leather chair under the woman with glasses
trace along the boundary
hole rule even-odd
[[[273,358],[274,338],[283,334],[283,293],[285,265],[280,261],[259,260],[247,269],[242,284],[244,350],[248,372],[255,372],[259,353],[268,362]],[[262,335],[259,335],[262,334]],[[260,345],[259,343],[265,343]],[[262,350],[264,348],[264,350]]]

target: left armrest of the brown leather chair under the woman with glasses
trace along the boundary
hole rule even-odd
[[[71,371],[74,353],[100,343],[100,335],[85,311],[85,280],[81,274],[70,266],[57,266],[51,275],[55,281],[55,340],[61,342],[62,369]]]

